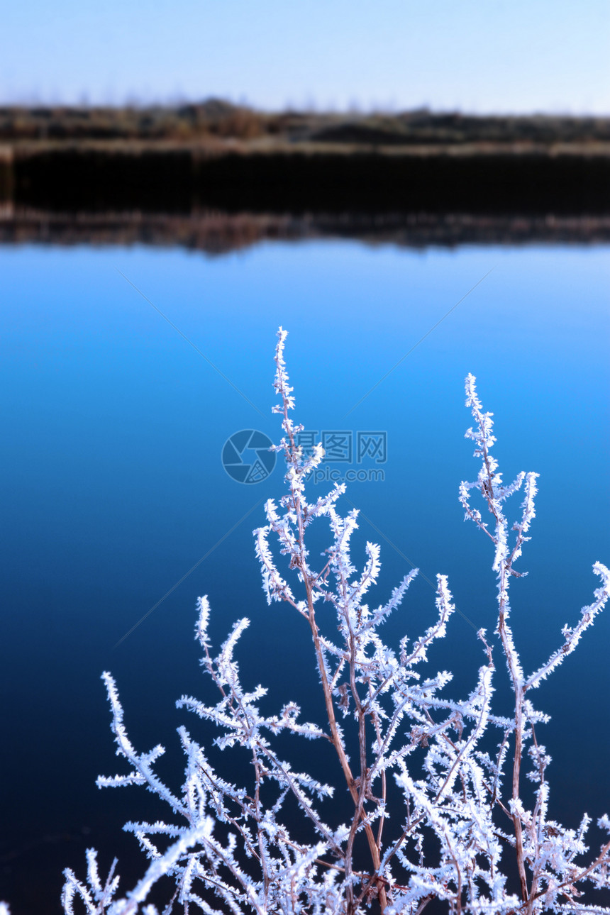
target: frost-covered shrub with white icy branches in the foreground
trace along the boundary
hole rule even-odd
[[[548,717],[532,704],[536,688],[574,650],[604,607],[608,569],[594,565],[601,587],[593,603],[573,626],[563,628],[551,657],[526,673],[513,642],[508,593],[511,579],[525,575],[515,566],[530,539],[537,474],[519,473],[514,482],[503,483],[490,454],[492,414],[483,412],[475,379],[468,375],[466,405],[474,425],[466,436],[475,443],[480,469],[475,482],[461,484],[459,497],[466,518],[493,544],[498,623],[493,639],[485,630],[477,633],[482,665],[471,694],[447,698],[451,674],[435,672],[428,663],[428,651],[444,638],[455,609],[447,579],[437,576],[433,626],[388,647],[381,626],[401,605],[417,570],[403,578],[387,603],[375,607],[365,602],[379,575],[380,548],[367,544],[361,571],[352,563],[349,544],[358,511],[346,517],[337,511],[343,485],[316,502],[306,501],[305,479],[324,452],[317,446],[307,457],[295,444],[303,427],[290,418],[294,398],[284,365],[286,332],[280,328],[278,336],[274,387],[280,403],[274,412],[281,414],[284,437],[275,450],[286,461],[286,494],[279,505],[267,501],[267,523],[254,532],[256,554],[269,603],[284,601],[311,632],[324,722],[302,721],[293,702],[275,715],[262,714],[259,705],[266,691],[241,684],[235,660],[248,619],[238,620],[215,652],[208,633],[208,598],[201,597],[197,638],[218,702],[205,705],[183,696],[177,705],[218,728],[219,748],[247,750],[249,783],[241,787],[223,778],[205,749],[181,727],[185,779],[181,793],[172,791],[155,774],[164,748],[144,753],[134,748],[123,727],[116,686],[104,673],[117,755],[128,769],[100,778],[98,784],[147,786],[167,803],[171,815],[168,822],[126,824],[150,859],[131,892],[123,895],[119,889],[114,865],[109,877],[100,877],[90,850],[86,883],[66,871],[65,912],[71,915],[84,906],[88,913],[153,915],[157,910],[146,900],[164,875],[175,882],[166,913],[352,915],[372,907],[387,915],[414,915],[432,900],[437,900],[435,911],[440,901],[445,911],[465,915],[610,912],[579,906],[585,885],[610,888],[610,841],[590,852],[586,814],[576,831],[549,818],[550,758],[537,733]],[[519,520],[511,524],[505,502],[519,491]],[[487,521],[471,503],[472,495],[488,512]],[[318,565],[305,545],[306,530],[314,522],[328,525],[331,533]],[[499,654],[514,694],[511,717],[492,711],[494,658]],[[275,738],[285,731],[312,742],[308,755],[316,752],[316,743],[326,748],[330,743],[337,770],[328,772],[328,780],[340,781],[338,791],[348,799],[345,822],[337,813],[346,809],[345,803],[340,798],[333,802],[337,789],[279,755]],[[533,788],[524,795],[526,778]],[[597,824],[602,834],[610,834],[607,816]],[[302,838],[307,829],[310,841]]]

